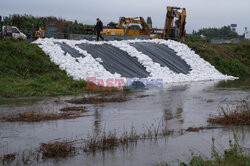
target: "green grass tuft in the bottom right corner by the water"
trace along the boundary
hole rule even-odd
[[[204,158],[202,156],[193,156],[192,159],[185,163],[179,163],[180,166],[249,166],[250,155],[243,153],[242,148],[238,144],[237,136],[234,135],[234,142],[229,140],[229,149],[226,149],[223,154],[220,155],[216,151],[214,145],[214,138],[212,138],[212,151],[211,159]],[[156,164],[156,166],[168,166],[168,163],[162,162]]]

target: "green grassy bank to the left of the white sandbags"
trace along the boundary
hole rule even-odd
[[[35,44],[0,40],[0,98],[76,94],[75,81],[53,64]]]

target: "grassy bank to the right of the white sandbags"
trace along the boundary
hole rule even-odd
[[[204,41],[189,41],[185,44],[223,74],[237,77],[250,75],[250,42],[210,44]]]

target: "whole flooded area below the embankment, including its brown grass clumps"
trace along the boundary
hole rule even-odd
[[[3,99],[0,165],[176,165],[189,161],[192,153],[209,158],[212,138],[222,152],[234,134],[249,153],[249,123],[209,120],[218,118],[222,108],[240,109],[242,102],[249,112],[249,82],[248,78],[127,93]],[[33,120],[23,120],[24,116]]]

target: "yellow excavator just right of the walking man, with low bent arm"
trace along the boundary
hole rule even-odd
[[[151,30],[143,17],[121,17],[118,23],[110,22],[103,29],[103,34],[105,35],[150,35],[150,33]]]

